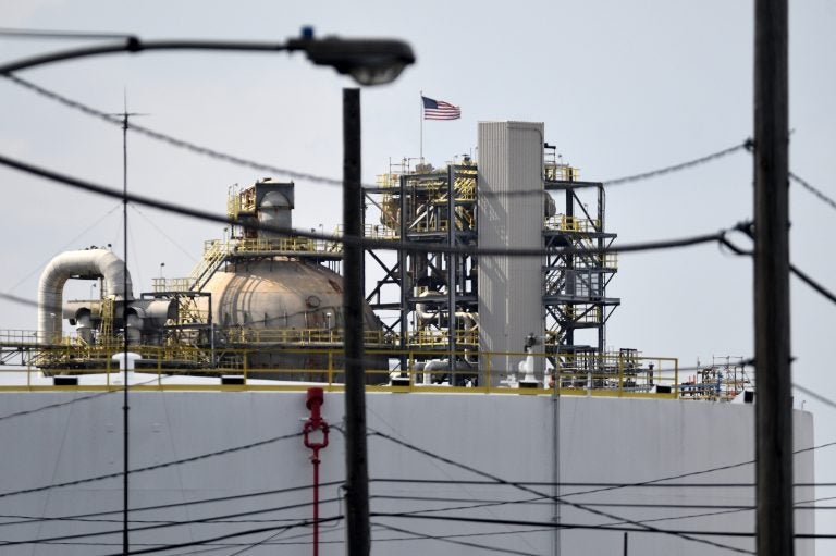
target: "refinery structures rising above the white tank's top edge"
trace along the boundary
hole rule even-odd
[[[369,385],[681,392],[675,358],[607,351],[620,299],[607,295],[617,256],[605,191],[542,137],[542,124],[484,123],[481,164],[404,160],[365,189],[365,237],[397,246],[367,250]],[[278,232],[293,230],[294,184],[269,178],[231,188],[226,209],[236,225],[205,243],[189,276],[153,279],[138,295],[111,250],[58,255],[40,277],[36,334],[7,335],[3,360],[83,383],[110,372],[126,344],[137,369],[164,374],[337,385],[339,227],[318,238]],[[63,299],[67,280],[98,281],[99,296]],[[689,393],[728,400],[751,390],[733,369]]]

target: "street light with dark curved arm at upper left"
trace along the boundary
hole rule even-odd
[[[243,52],[305,52],[317,65],[328,65],[337,73],[351,75],[360,85],[381,85],[394,81],[407,65],[415,63],[413,49],[396,39],[316,38],[306,27],[299,38],[281,42],[235,40],[147,40],[127,37],[112,45],[60,50],[0,65],[0,75],[53,62],[112,54],[139,53],[149,50],[214,50]]]

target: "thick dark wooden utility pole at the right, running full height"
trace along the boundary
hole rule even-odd
[[[757,553],[791,556],[787,0],[754,7]]]

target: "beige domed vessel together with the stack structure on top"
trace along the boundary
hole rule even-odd
[[[192,287],[210,316],[216,365],[244,368],[250,378],[342,382],[342,247],[293,235],[293,183],[233,189],[228,212],[241,225],[207,244],[204,277],[198,271]],[[366,305],[370,344],[382,341],[381,329]],[[388,382],[386,361],[370,363],[368,382]]]

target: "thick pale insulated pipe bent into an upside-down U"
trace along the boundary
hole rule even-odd
[[[49,261],[38,282],[38,342],[60,341],[64,284],[71,277],[102,277],[103,296],[128,301],[134,298],[131,274],[122,259],[111,251],[87,249],[62,252]]]

